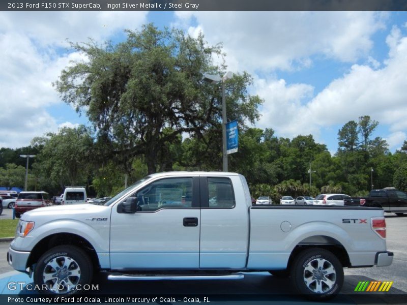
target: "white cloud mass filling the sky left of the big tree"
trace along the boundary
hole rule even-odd
[[[62,103],[52,87],[79,53],[58,53],[68,38],[102,42],[124,28],[135,29],[147,12],[0,12],[0,145],[21,147],[55,132],[61,118],[47,107]],[[62,49],[61,49],[62,50]]]

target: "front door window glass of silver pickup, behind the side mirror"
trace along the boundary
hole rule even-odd
[[[133,197],[138,210],[156,211],[161,208],[191,208],[192,178],[166,178],[152,182]]]

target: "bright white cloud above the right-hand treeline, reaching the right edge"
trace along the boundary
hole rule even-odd
[[[323,128],[370,115],[381,125],[389,126],[392,134],[386,138],[390,147],[399,145],[407,130],[404,73],[407,71],[407,37],[402,37],[399,29],[393,27],[386,41],[390,50],[382,69],[353,65],[350,71],[306,101],[304,99],[312,95],[312,87],[305,84],[257,81],[260,85],[256,85],[256,92],[266,101],[259,126],[271,126],[287,137],[309,133],[317,137]],[[377,68],[377,63],[374,66]]]

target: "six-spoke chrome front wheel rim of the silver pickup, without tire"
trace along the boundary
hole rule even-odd
[[[80,280],[78,263],[68,257],[59,256],[51,259],[42,273],[44,284],[53,293],[73,291]]]

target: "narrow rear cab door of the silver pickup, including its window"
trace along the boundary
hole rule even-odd
[[[199,267],[245,268],[249,206],[241,176],[201,176],[200,196]]]

